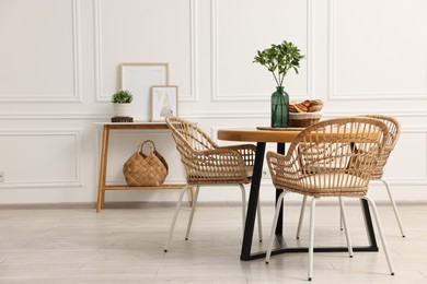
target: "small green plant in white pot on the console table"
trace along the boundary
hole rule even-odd
[[[132,122],[131,102],[134,95],[127,90],[118,90],[112,95],[114,117],[113,122]]]

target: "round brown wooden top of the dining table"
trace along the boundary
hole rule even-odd
[[[245,142],[291,142],[302,130],[302,128],[224,128],[218,130],[218,139]]]

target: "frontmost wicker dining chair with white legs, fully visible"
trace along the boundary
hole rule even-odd
[[[282,190],[277,200],[266,253],[269,262],[280,204],[289,192],[311,197],[308,279],[313,274],[314,212],[320,198],[337,197],[343,209],[343,198],[368,201],[372,209],[390,273],[393,264],[384,238],[376,203],[367,196],[378,156],[389,137],[388,127],[380,120],[366,117],[324,120],[305,128],[292,141],[286,155],[268,152],[267,164],[273,184]],[[345,210],[343,209],[348,253],[353,248]]]

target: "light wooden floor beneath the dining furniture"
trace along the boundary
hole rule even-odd
[[[273,205],[263,204],[267,240]],[[236,205],[201,204],[189,240],[189,210],[180,215],[170,251],[164,240],[174,208],[0,210],[0,283],[307,283],[307,253],[240,261],[241,221]],[[401,204],[406,238],[392,210],[379,205],[395,265],[391,276],[380,252],[315,253],[315,283],[427,283],[427,206]],[[308,226],[293,238],[299,206],[287,206],[289,244],[307,245]],[[347,206],[355,245],[366,244],[360,208]],[[338,208],[319,203],[316,246],[345,244]],[[267,241],[264,241],[266,244]],[[379,240],[378,240],[379,241]],[[380,242],[380,241],[379,241]],[[263,248],[255,237],[254,247]]]

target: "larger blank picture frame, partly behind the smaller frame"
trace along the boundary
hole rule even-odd
[[[169,84],[169,63],[120,63],[120,88],[134,94],[134,121],[151,120],[151,86]]]

